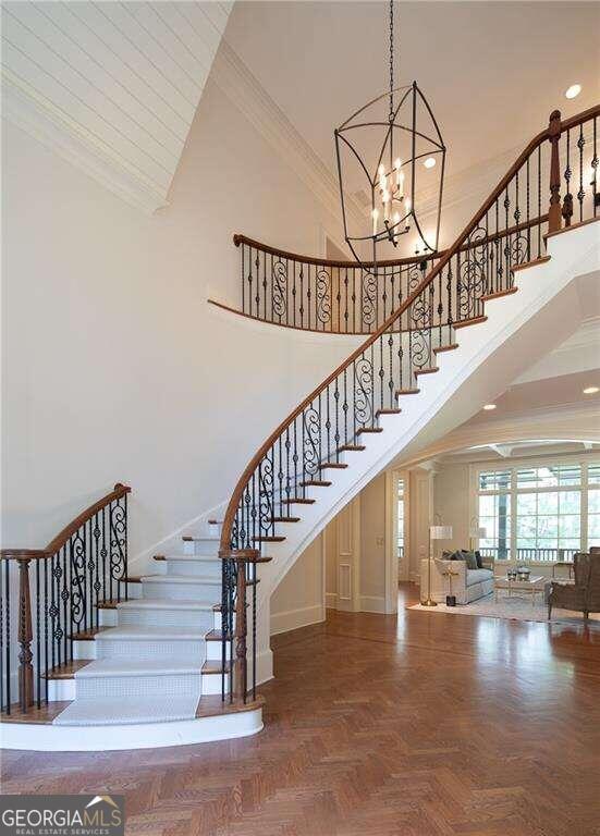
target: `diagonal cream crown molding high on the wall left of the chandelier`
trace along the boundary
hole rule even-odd
[[[215,57],[210,78],[327,212],[340,217],[338,180],[225,40]],[[345,199],[347,213],[354,221],[364,223],[365,214],[357,201],[347,194]]]

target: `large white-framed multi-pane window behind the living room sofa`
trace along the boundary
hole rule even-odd
[[[547,463],[477,474],[479,549],[497,560],[560,561],[600,545],[600,464]]]

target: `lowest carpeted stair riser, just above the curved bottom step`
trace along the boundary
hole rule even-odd
[[[166,676],[75,677],[77,698],[85,697],[200,697],[200,674]]]

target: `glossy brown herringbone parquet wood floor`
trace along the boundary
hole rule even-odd
[[[273,640],[255,737],[4,752],[3,792],[126,796],[147,836],[600,834],[600,630],[332,613]]]

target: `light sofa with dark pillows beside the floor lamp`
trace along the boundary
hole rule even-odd
[[[446,571],[452,571],[452,594],[456,595],[457,604],[468,604],[493,592],[493,557],[479,557],[477,568],[467,556],[476,553],[454,552],[444,553],[441,558],[431,561],[431,598],[438,603],[444,602],[449,594],[450,585]],[[421,599],[427,597],[428,561],[420,563]]]

